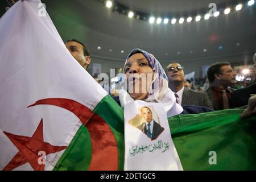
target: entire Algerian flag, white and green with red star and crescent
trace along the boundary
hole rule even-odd
[[[123,169],[123,110],[38,3],[19,1],[0,19],[0,169]],[[183,169],[256,170],[256,117],[242,111],[168,118]]]

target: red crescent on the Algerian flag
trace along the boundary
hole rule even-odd
[[[89,170],[118,170],[117,142],[108,123],[100,115],[93,113],[79,102],[67,98],[46,98],[36,101],[35,104],[28,107],[36,105],[53,105],[67,109],[86,126],[92,141]]]

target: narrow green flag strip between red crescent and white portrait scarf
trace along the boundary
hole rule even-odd
[[[94,108],[94,113],[108,123],[112,130],[118,147],[118,169],[123,170],[123,162],[125,160],[125,137],[123,110],[109,95],[105,96],[99,104]]]

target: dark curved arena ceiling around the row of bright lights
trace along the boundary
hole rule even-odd
[[[193,61],[255,52],[256,6],[243,7],[228,15],[203,18],[183,24],[150,24],[148,20],[130,19],[106,8],[98,0],[44,0],[46,9],[63,40],[84,42],[93,56],[124,60],[133,48],[142,48],[160,61]],[[209,10],[233,7],[230,0],[117,0],[131,10],[157,16],[184,18]],[[247,1],[240,1],[246,3]],[[3,2],[1,2],[3,4]],[[3,5],[5,6],[5,5]],[[3,7],[1,6],[1,7]],[[101,49],[98,49],[101,47]]]

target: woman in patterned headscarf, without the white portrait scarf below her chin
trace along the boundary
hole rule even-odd
[[[119,92],[119,97],[114,97],[122,108],[131,101],[143,100],[162,103],[168,117],[181,113],[197,114],[212,111],[208,107],[181,107],[177,104],[174,93],[168,88],[168,78],[159,61],[142,49],[136,48],[129,53],[123,73],[125,74],[123,89]],[[143,79],[141,75],[145,75],[146,79]],[[143,90],[145,88],[146,90]]]

